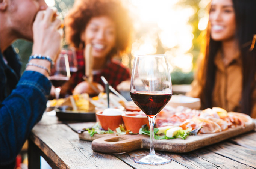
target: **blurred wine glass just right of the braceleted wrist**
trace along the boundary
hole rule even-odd
[[[58,100],[62,84],[64,84],[70,78],[70,66],[67,54],[59,54],[58,59],[52,66],[51,73],[52,75],[49,76],[48,79],[52,82],[52,85],[55,87],[55,98],[56,100]]]

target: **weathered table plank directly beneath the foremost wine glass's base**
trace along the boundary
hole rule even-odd
[[[179,164],[176,161],[172,160],[171,163],[164,164],[164,165],[145,165],[145,164],[138,164],[133,161],[133,158],[139,155],[148,155],[149,150],[139,150],[133,151],[125,154],[116,154],[115,156],[118,157],[120,160],[124,161],[125,163],[129,164],[133,168],[147,168],[147,169],[170,169],[170,168],[178,168],[178,169],[186,169],[187,167],[183,166],[183,164]],[[156,152],[156,155],[161,155]],[[170,155],[168,155],[171,157]]]

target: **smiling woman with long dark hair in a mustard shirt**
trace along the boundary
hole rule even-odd
[[[256,1],[212,0],[206,49],[188,95],[201,109],[222,107],[256,118]]]

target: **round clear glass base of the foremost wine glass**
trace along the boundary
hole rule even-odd
[[[171,158],[164,155],[141,155],[133,159],[135,163],[159,165],[171,162]]]

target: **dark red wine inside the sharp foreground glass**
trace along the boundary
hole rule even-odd
[[[151,118],[156,116],[172,97],[172,93],[161,91],[136,91],[130,92],[130,95],[134,103]]]

